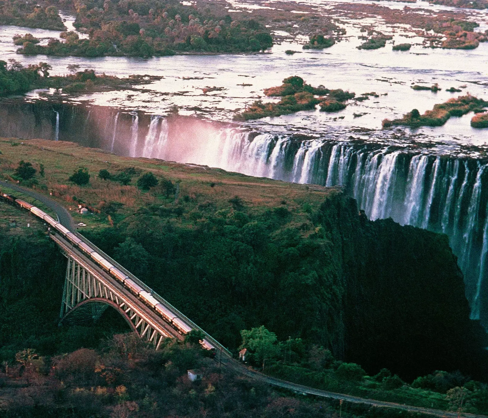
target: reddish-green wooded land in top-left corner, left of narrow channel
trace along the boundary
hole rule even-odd
[[[0,25],[65,30],[58,8],[50,1],[0,1]]]

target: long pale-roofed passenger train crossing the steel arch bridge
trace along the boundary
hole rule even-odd
[[[63,227],[60,222],[56,221],[52,216],[36,208],[34,205],[27,203],[23,200],[16,199],[14,196],[0,192],[0,197],[9,203],[19,205],[20,208],[29,210],[32,214],[46,222],[52,228],[54,228],[61,236],[66,238],[73,246],[78,247],[78,249],[88,256],[93,262],[98,266],[102,267],[108,274],[125,286],[132,294],[138,297],[144,304],[148,305],[153,309],[164,321],[169,323],[176,331],[181,335],[188,334],[192,327],[185,323],[183,319],[179,318],[174,312],[172,312],[168,307],[161,304],[150,292],[144,290],[140,285],[138,285],[134,280],[130,279],[125,273],[123,273],[119,268],[112,265],[108,260],[106,260],[102,255],[95,251],[92,247],[86,244],[78,236],[76,236],[69,229]],[[200,341],[202,347],[206,350],[212,351],[215,354],[215,347],[206,339]]]

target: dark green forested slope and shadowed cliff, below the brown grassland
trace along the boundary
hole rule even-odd
[[[256,211],[236,197],[215,210],[186,199],[86,235],[224,345],[264,325],[369,372],[478,369],[481,341],[445,236],[370,222],[342,194],[301,224],[286,204]]]

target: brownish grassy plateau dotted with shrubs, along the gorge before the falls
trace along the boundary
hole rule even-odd
[[[228,200],[235,196],[239,196],[251,210],[261,211],[286,205],[295,213],[297,222],[300,222],[301,212],[318,207],[325,196],[331,193],[330,188],[321,186],[290,184],[156,159],[121,157],[64,141],[0,138],[0,152],[0,178],[15,182],[12,175],[20,160],[31,162],[37,170],[35,178],[38,181],[32,188],[46,195],[51,194],[52,198],[70,210],[77,222],[87,224],[86,228],[110,225],[110,220],[103,213],[103,205],[108,202],[123,205],[117,211],[119,217],[134,213],[147,204],[194,207],[193,212],[190,210],[190,213],[183,216],[184,223],[185,216],[194,218],[198,215],[196,212],[199,206],[228,208]],[[40,175],[40,164],[44,167],[43,176]],[[78,167],[86,167],[90,173],[87,186],[77,186],[68,181]],[[102,169],[117,174],[131,168],[134,168],[132,172],[135,173],[129,185],[98,178]],[[159,187],[144,192],[136,186],[138,177],[149,171],[159,180],[164,178],[175,186],[179,185],[176,200],[173,196],[166,198]],[[27,198],[25,200],[29,201]],[[93,214],[81,215],[77,212],[79,203],[96,210],[102,209],[102,213],[95,211]]]

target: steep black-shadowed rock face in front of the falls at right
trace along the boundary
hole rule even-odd
[[[484,330],[469,320],[463,275],[446,235],[358,216],[328,199],[317,219],[337,248],[345,286],[344,359],[404,379],[435,369],[480,376]],[[340,354],[336,350],[336,355]]]

